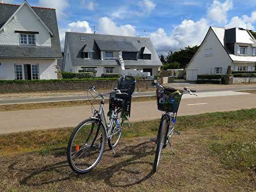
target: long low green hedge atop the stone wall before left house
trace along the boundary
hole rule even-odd
[[[28,83],[28,82],[76,82],[76,81],[114,81],[118,78],[83,78],[83,79],[37,79],[37,80],[0,80],[0,83],[10,84],[10,83]]]

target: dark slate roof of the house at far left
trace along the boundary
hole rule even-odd
[[[7,22],[19,5],[0,3],[0,28]],[[53,33],[51,47],[0,45],[0,57],[60,58],[60,42],[55,9],[32,7],[42,22]]]

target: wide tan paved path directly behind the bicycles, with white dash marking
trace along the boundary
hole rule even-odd
[[[206,93],[204,93],[206,94]],[[233,111],[256,108],[256,94],[183,98],[178,115],[195,115],[207,112]],[[108,105],[105,106],[108,109]],[[76,106],[44,110],[0,112],[0,134],[19,131],[52,129],[77,125],[91,116],[91,107]],[[131,121],[157,119],[161,112],[155,101],[132,104]]]

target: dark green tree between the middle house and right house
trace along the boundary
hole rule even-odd
[[[185,68],[198,49],[199,49],[199,46],[194,46],[194,47],[187,46],[185,47],[185,49],[180,49],[179,51],[175,51],[175,52],[170,50],[166,56],[166,62],[167,63],[178,62],[180,63],[181,68]]]

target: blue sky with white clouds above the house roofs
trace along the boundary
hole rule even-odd
[[[62,46],[66,31],[90,33],[93,26],[102,34],[146,34],[158,53],[199,45],[209,26],[256,30],[255,0],[28,0],[28,3],[56,8]]]

